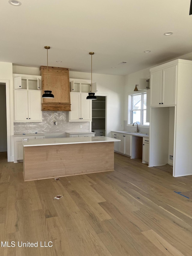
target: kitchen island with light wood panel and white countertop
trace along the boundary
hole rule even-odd
[[[114,138],[72,137],[23,141],[25,181],[114,170]]]

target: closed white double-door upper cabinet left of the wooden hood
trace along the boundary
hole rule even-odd
[[[41,91],[14,90],[14,122],[42,122]]]

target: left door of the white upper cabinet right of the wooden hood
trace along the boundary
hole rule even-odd
[[[70,93],[71,111],[69,112],[69,121],[81,120],[81,94],[76,92]]]

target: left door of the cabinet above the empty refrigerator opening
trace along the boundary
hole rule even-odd
[[[151,100],[150,106],[161,106],[162,70],[151,73]]]

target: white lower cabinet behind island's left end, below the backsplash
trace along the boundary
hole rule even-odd
[[[23,140],[32,140],[32,139],[44,139],[44,135],[39,136],[25,136],[25,137],[14,137],[14,162],[23,160]]]

